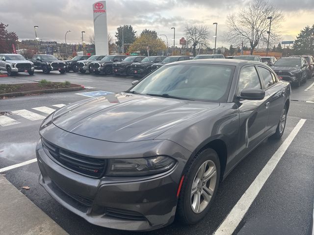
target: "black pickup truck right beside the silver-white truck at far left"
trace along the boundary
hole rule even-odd
[[[33,55],[31,62],[34,63],[35,70],[42,70],[45,74],[50,71],[59,71],[65,73],[66,67],[62,60],[58,60],[53,55]]]

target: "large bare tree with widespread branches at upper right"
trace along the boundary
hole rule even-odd
[[[269,30],[269,17],[271,19],[270,43],[274,44],[280,40],[277,29],[284,17],[268,0],[254,0],[248,7],[240,10],[236,15],[229,15],[227,25],[229,28],[225,37],[235,45],[249,43],[251,55],[259,43],[267,43]]]

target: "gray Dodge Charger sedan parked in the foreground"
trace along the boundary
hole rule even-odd
[[[165,65],[128,91],[65,106],[41,127],[39,183],[108,228],[147,231],[205,217],[223,180],[284,133],[290,85],[265,64]]]

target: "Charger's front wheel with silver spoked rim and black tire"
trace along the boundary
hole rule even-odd
[[[187,168],[178,201],[177,216],[184,224],[195,224],[209,211],[216,195],[220,162],[211,148],[198,153]]]

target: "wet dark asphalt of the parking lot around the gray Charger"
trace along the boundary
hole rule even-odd
[[[38,129],[42,120],[29,120],[15,115],[16,110],[27,110],[47,116],[36,107],[56,109],[59,104],[68,104],[88,98],[77,93],[89,91],[120,92],[128,89],[134,78],[77,74],[74,72],[34,76],[19,74],[16,78],[0,78],[3,82],[31,82],[47,79],[70,81],[88,87],[86,91],[42,94],[0,100],[0,112],[16,120],[17,124],[0,126],[0,169],[35,158],[34,146],[39,139]],[[245,213],[234,231],[238,235],[310,235],[314,204],[314,86],[305,91],[314,79],[299,88],[292,88],[290,109],[285,134],[282,140],[266,140],[241,161],[230,175],[220,183],[215,201],[207,217],[193,226],[178,222],[163,229],[131,233],[94,226],[64,209],[38,184],[37,163],[27,164],[4,172],[5,177],[41,210],[47,213],[70,235],[211,235],[237,201],[249,188],[268,160],[288,137],[301,118],[306,119],[287,151],[270,174],[261,191]],[[306,102],[308,101],[308,102]],[[313,102],[313,103],[312,103]],[[28,186],[29,190],[21,187]]]

